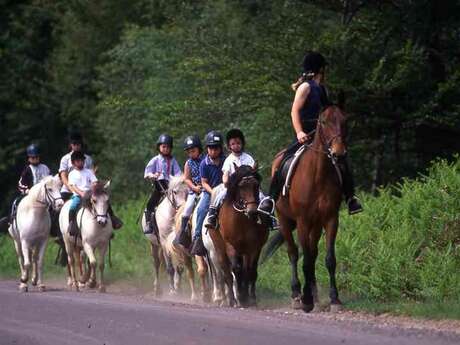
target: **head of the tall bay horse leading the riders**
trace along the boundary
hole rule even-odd
[[[334,157],[341,157],[347,153],[345,124],[346,116],[336,105],[326,107],[318,118],[318,139]]]

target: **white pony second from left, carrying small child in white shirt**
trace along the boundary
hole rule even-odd
[[[110,237],[112,236],[112,221],[108,215],[110,181],[103,184],[98,181],[91,186],[90,196],[82,200],[82,207],[77,213],[77,225],[80,229],[81,239],[75,239],[70,236],[69,228],[69,208],[70,201],[67,201],[59,215],[59,227],[64,239],[67,251],[67,260],[69,265],[70,277],[68,284],[70,288],[74,287],[79,290],[79,284],[75,274],[75,259],[81,265],[80,251],[83,247],[86,256],[89,259],[89,281],[87,287],[96,287],[96,263],[99,266],[99,291],[105,292],[104,285],[104,267],[105,254],[109,246]],[[75,242],[77,241],[77,242]],[[99,257],[96,261],[96,249]],[[84,279],[83,281],[85,281]]]

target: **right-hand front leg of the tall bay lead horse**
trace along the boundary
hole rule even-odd
[[[342,302],[339,299],[335,280],[335,270],[337,266],[335,258],[335,238],[339,225],[338,217],[332,219],[326,225],[326,267],[329,272],[329,297],[331,299],[331,311],[336,312],[342,309]]]

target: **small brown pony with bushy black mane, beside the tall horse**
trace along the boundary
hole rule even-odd
[[[235,304],[233,275],[238,304],[256,304],[257,265],[268,238],[268,228],[258,222],[259,185],[260,176],[250,166],[237,167],[219,212],[220,228],[210,230],[230,306]]]

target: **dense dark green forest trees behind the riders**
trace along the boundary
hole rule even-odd
[[[358,186],[423,172],[460,151],[457,0],[2,0],[0,209],[25,148],[56,171],[80,129],[118,198],[145,193],[162,132],[181,142],[239,127],[268,176],[293,140],[290,84],[306,50],[346,95]]]

